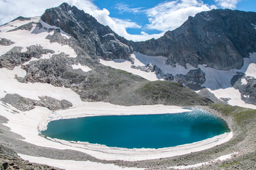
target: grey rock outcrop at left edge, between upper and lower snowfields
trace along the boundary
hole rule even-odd
[[[40,58],[41,55],[54,53],[52,50],[43,49],[43,47],[37,45],[27,47],[26,52],[21,52],[22,49],[23,47],[13,47],[5,55],[1,55],[0,68],[6,67],[8,69],[13,69],[24,62],[28,62],[32,57]]]

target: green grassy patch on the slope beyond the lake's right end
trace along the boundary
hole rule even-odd
[[[232,116],[233,120],[235,120],[238,125],[248,123],[256,118],[256,110],[250,108],[241,108],[219,103],[211,104],[210,108],[223,113],[223,115]]]

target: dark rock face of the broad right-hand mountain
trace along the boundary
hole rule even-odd
[[[186,67],[207,64],[214,69],[240,69],[243,57],[256,52],[256,13],[218,9],[189,17],[179,28],[145,42],[133,42],[144,55],[168,57]]]

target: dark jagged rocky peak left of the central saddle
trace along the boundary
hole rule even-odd
[[[133,61],[130,54],[133,48],[128,40],[121,38],[108,26],[103,26],[84,11],[64,3],[57,8],[45,11],[41,19],[64,30],[94,59],[102,57],[105,60],[126,59]]]

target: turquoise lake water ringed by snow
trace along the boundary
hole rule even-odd
[[[206,111],[156,115],[105,115],[55,120],[42,134],[108,147],[163,148],[198,142],[229,132],[221,118]]]

